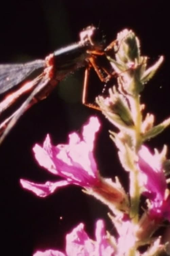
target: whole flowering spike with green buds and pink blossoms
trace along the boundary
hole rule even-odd
[[[117,236],[105,230],[104,221],[96,222],[95,240],[91,240],[80,223],[66,236],[64,252],[38,250],[34,256],[156,256],[168,253],[170,238],[162,242],[153,237],[164,220],[170,222],[170,190],[168,175],[170,160],[167,146],[152,153],[146,141],[161,133],[170,119],[154,125],[154,116],[143,114],[140,94],[163,61],[161,56],[147,68],[146,56],[140,54],[138,38],[130,30],[118,34],[117,44],[105,49],[106,56],[118,74],[118,86],[109,90],[109,96],[97,97],[96,102],[105,117],[118,129],[110,131],[110,138],[118,148],[122,167],[129,174],[127,193],[118,177],[114,181],[100,174],[94,158],[96,134],[100,130],[98,118],[91,117],[82,133],[69,135],[68,144],[52,145],[47,135],[43,146],[34,146],[34,155],[42,167],[59,179],[55,182],[34,183],[21,179],[23,188],[39,197],[46,197],[70,184],[80,186],[83,192],[100,200],[108,207],[109,217]],[[109,52],[115,50],[115,59]],[[112,49],[114,48],[114,49]],[[112,177],[113,178],[113,177]],[[141,196],[145,206],[140,205]],[[168,241],[169,240],[169,241]],[[140,247],[147,245],[144,252]]]

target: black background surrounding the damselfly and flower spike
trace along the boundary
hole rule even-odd
[[[168,2],[168,1],[167,1]],[[155,61],[165,61],[146,86],[142,101],[156,114],[156,122],[170,112],[170,40],[169,7],[165,0],[17,0],[4,1],[0,8],[0,63],[23,62],[44,58],[55,49],[78,40],[79,31],[91,24],[99,26],[108,44],[127,27],[141,39],[142,53]],[[52,92],[48,99],[28,110],[0,146],[1,176],[1,248],[4,255],[32,256],[36,249],[64,248],[64,237],[78,223],[84,222],[93,238],[94,221],[106,218],[107,208],[70,186],[45,199],[24,191],[19,179],[36,182],[55,180],[34,160],[32,147],[42,144],[49,133],[54,144],[66,143],[68,133],[80,131],[90,115],[102,122],[95,146],[95,156],[103,176],[123,176],[115,146],[109,139],[109,122],[99,111],[81,104],[84,72],[76,71]],[[90,82],[91,90],[100,82]],[[148,145],[161,149],[170,142],[170,128]],[[169,155],[170,156],[170,155]],[[62,220],[60,217],[62,216]],[[110,222],[107,229],[112,231]],[[2,254],[2,253],[1,253]]]

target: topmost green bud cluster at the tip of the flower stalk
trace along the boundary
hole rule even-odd
[[[115,60],[109,54],[107,58],[118,74],[119,87],[123,86],[124,91],[136,96],[143,91],[144,84],[156,73],[163,61],[163,56],[155,64],[147,68],[148,58],[140,55],[139,39],[132,30],[127,29],[118,34],[114,50],[116,52]]]

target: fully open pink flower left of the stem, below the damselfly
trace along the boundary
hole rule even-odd
[[[33,150],[39,165],[64,180],[46,182],[44,184],[20,180],[23,188],[34,192],[37,196],[45,197],[60,187],[76,184],[89,188],[100,184],[97,165],[93,155],[95,134],[100,128],[97,118],[91,117],[83,127],[82,135],[69,135],[68,144],[53,146],[47,135],[43,146],[35,145]]]

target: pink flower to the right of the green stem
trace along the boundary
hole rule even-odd
[[[161,154],[152,155],[146,146],[139,150],[139,169],[144,178],[144,195],[150,200],[150,219],[170,220],[170,194],[162,168]]]

